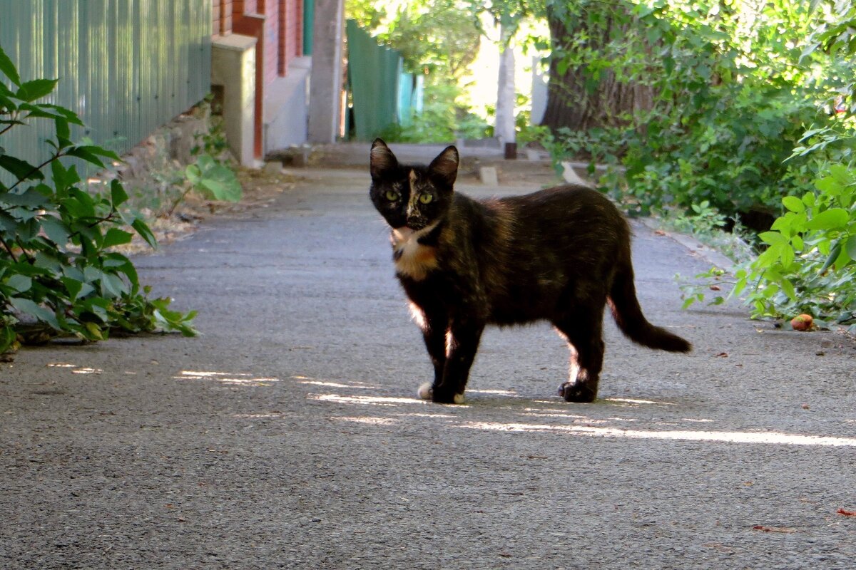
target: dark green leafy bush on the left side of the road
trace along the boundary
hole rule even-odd
[[[134,264],[112,250],[128,244],[133,232],[157,244],[145,220],[124,209],[128,194],[113,180],[109,190],[92,195],[76,167],[76,158],[104,168],[119,160],[94,144],[74,144],[74,112],[37,103],[56,87],[55,79],[22,81],[0,50],[0,135],[34,119],[52,120],[51,156],[40,164],[5,154],[0,168],[12,178],[0,182],[0,353],[21,341],[45,341],[72,335],[94,341],[113,329],[127,332],[177,331],[193,335],[194,313],[169,309],[169,299],[149,299]],[[2,140],[2,139],[0,139]]]

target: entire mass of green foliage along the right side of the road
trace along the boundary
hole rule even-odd
[[[615,165],[601,182],[631,213],[672,208],[698,235],[715,235],[723,214],[779,214],[733,279],[714,269],[686,285],[687,306],[730,285],[755,317],[809,313],[856,330],[853,3],[546,6],[570,38],[559,71],[581,70],[583,96],[608,73],[651,94],[597,129],[542,133],[557,162]]]

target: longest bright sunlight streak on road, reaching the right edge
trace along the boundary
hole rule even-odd
[[[494,432],[558,432],[603,438],[665,439],[675,441],[710,441],[727,444],[782,444],[856,447],[856,438],[835,438],[782,432],[694,432],[688,430],[651,432],[622,430],[615,427],[550,426],[489,421],[470,422],[459,427]]]

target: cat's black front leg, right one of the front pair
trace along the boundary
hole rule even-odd
[[[453,320],[446,338],[446,363],[443,381],[434,385],[431,399],[435,403],[463,403],[464,390],[470,375],[470,367],[476,351],[484,322],[476,320]]]

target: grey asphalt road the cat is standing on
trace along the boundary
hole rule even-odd
[[[300,174],[138,259],[203,336],[0,365],[0,568],[854,566],[846,338],[681,311],[707,264],[634,225],[645,313],[693,353],[609,323],[601,398],[569,404],[549,326],[489,330],[467,403],[425,403],[366,170]]]

